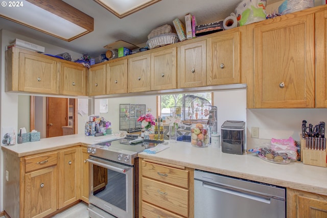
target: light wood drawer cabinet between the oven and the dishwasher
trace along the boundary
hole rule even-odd
[[[141,159],[139,217],[194,217],[194,171]]]

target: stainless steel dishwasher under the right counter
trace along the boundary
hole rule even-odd
[[[194,171],[195,218],[285,218],[286,189]]]

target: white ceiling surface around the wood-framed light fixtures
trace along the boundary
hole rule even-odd
[[[189,12],[196,16],[198,24],[223,20],[234,12],[241,2],[241,0],[161,0],[120,19],[92,0],[63,1],[93,17],[94,31],[66,42],[4,18],[0,18],[0,29],[97,57],[106,52],[103,46],[117,40],[124,40],[140,47],[145,46],[151,30],[165,24],[173,27],[172,21],[176,17],[184,22],[184,15]]]

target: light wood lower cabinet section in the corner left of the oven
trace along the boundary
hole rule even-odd
[[[11,218],[52,215],[80,200],[88,203],[85,147],[18,157],[3,150],[4,210]]]

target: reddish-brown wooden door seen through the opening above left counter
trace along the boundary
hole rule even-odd
[[[62,127],[67,126],[67,99],[46,98],[46,137],[62,136]]]

